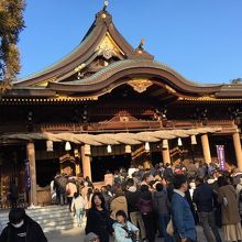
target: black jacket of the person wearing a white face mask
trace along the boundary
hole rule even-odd
[[[0,235],[0,242],[47,242],[47,239],[40,224],[26,216],[21,228],[9,223]]]

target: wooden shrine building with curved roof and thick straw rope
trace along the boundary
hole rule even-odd
[[[217,162],[217,145],[242,170],[241,103],[242,85],[186,79],[103,9],[69,55],[1,97],[0,195],[13,180],[25,193],[26,164],[34,205],[57,170],[101,182],[131,164]]]

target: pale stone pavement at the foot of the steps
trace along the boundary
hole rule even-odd
[[[50,234],[46,234],[48,238],[48,242],[84,242],[84,228],[85,224],[82,224],[81,228],[74,228],[68,231],[63,231],[62,233],[52,232]],[[201,227],[197,227],[198,232],[198,242],[206,242],[206,239],[204,237],[204,232]],[[110,242],[113,240],[110,240]],[[156,239],[156,242],[162,242],[162,239]]]

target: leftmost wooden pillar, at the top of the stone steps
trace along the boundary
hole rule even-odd
[[[33,142],[29,142],[26,145],[26,156],[30,162],[30,177],[31,177],[30,204],[31,206],[37,206],[35,147]]]

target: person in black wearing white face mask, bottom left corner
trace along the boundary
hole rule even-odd
[[[9,212],[9,223],[0,235],[0,242],[47,242],[41,226],[26,216],[23,208]]]

